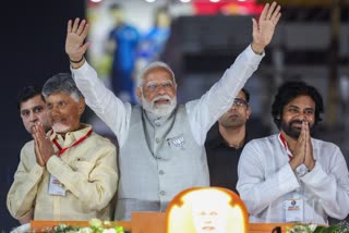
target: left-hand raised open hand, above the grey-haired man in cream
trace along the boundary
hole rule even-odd
[[[91,42],[84,42],[89,29],[85,20],[80,22],[76,17],[73,22],[68,22],[65,52],[71,61],[81,61]]]

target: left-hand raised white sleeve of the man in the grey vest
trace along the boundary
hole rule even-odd
[[[71,69],[76,86],[87,106],[110,127],[120,147],[128,138],[131,105],[123,103],[98,78],[96,71],[85,62],[80,69]]]

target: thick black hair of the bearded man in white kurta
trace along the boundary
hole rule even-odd
[[[317,89],[313,86],[308,85],[302,81],[297,81],[297,82],[289,81],[284,83],[281,86],[279,86],[272,106],[273,120],[278,128],[280,128],[280,125],[281,125],[284,107],[299,96],[309,96],[314,100],[315,102],[314,125],[316,125],[318,122],[322,121],[322,118],[320,116],[320,114],[324,112],[324,103],[323,103],[323,97],[320,95]]]

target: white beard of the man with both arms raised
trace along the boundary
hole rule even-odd
[[[155,101],[158,99],[167,99],[168,105],[155,105]],[[143,109],[152,112],[156,118],[161,118],[170,114],[177,106],[177,97],[170,98],[168,95],[157,96],[151,102],[147,101],[144,96],[142,99]]]

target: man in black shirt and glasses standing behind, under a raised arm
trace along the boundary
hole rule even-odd
[[[210,186],[229,188],[236,193],[238,162],[244,145],[256,137],[246,133],[251,115],[250,94],[242,88],[228,111],[209,130],[205,143]],[[261,135],[262,136],[262,135]]]

